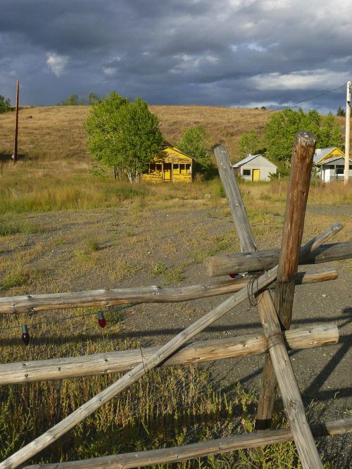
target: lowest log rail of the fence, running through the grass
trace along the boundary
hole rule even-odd
[[[322,422],[310,427],[315,438],[333,434],[352,432],[352,418]],[[27,465],[23,469],[128,469],[147,467],[166,463],[178,463],[187,459],[221,454],[244,448],[257,448],[269,444],[279,444],[292,441],[289,428],[283,430],[268,430],[249,434],[237,434],[232,437],[214,439],[210,442],[187,444],[172,448],[153,449],[126,454],[103,456],[101,458],[68,461],[66,463]]]

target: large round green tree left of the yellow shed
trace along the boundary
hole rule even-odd
[[[158,118],[145,101],[112,92],[92,105],[87,118],[89,154],[103,167],[113,168],[115,177],[126,173],[138,180],[163,146]]]

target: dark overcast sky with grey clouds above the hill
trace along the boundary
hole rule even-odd
[[[0,0],[0,94],[280,108],[352,79],[351,0]],[[346,87],[301,104],[336,113]]]

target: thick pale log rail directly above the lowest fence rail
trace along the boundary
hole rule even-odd
[[[284,334],[289,349],[337,344],[339,331],[336,325],[322,324],[298,327]],[[51,360],[22,361],[0,364],[0,385],[26,382],[63,380],[92,375],[108,375],[132,370],[142,360],[150,358],[158,347],[105,352]],[[208,340],[186,344],[162,366],[196,365],[206,361],[263,354],[268,350],[264,334],[251,334],[229,339]]]

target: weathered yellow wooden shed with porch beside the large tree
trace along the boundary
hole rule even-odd
[[[149,164],[142,179],[151,182],[192,182],[193,159],[167,144]]]

